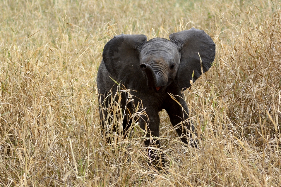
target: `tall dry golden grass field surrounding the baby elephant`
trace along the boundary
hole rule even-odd
[[[280,1],[2,0],[0,11],[0,186],[281,186]],[[138,124],[102,138],[97,69],[114,35],[191,27],[216,44],[185,91],[200,147],[160,112],[169,173],[155,172]]]

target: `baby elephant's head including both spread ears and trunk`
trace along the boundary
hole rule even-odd
[[[212,66],[215,43],[195,28],[170,34],[169,38],[147,41],[145,35],[115,36],[104,46],[105,67],[128,89],[147,91],[152,87],[163,91],[175,79],[180,89],[186,89],[190,80],[194,82]]]

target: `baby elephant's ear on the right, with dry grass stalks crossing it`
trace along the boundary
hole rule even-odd
[[[179,88],[185,90],[191,86],[190,80],[195,82],[202,75],[202,70],[205,73],[212,66],[216,45],[208,34],[194,27],[170,34],[169,38],[181,53],[177,80]],[[202,60],[202,70],[198,53]]]

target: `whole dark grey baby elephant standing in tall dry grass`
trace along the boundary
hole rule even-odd
[[[148,118],[143,116],[139,120],[140,127],[148,131],[145,146],[160,146],[159,140],[156,139],[160,136],[158,112],[162,109],[167,111],[172,125],[177,127],[176,131],[181,141],[188,144],[192,131],[196,136],[194,126],[188,120],[189,111],[182,90],[191,86],[190,80],[194,82],[202,72],[211,67],[215,58],[215,44],[203,30],[194,28],[171,34],[169,38],[170,41],[163,38],[147,41],[145,35],[122,34],[115,36],[104,46],[103,60],[97,75],[100,120],[103,128],[104,115],[108,115],[105,108],[108,108],[110,102],[104,98],[111,90],[116,92],[117,84],[112,80],[114,79],[127,89],[135,90],[131,91],[131,95],[135,97],[127,104],[127,110],[132,113],[135,109],[134,104],[137,105],[138,102],[142,102],[145,108]],[[198,53],[202,60],[202,68]],[[174,95],[180,105],[169,93]],[[123,108],[127,97],[125,93],[122,96]],[[124,119],[124,132],[130,125],[131,121]],[[197,146],[196,141],[193,141],[192,145]],[[159,169],[159,166],[164,166],[164,157],[153,153],[153,150],[148,149],[150,163],[158,165]]]

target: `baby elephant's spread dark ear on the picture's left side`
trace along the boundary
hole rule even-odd
[[[146,41],[145,35],[121,34],[104,46],[102,58],[107,71],[127,89],[142,91],[146,86],[139,60],[139,51]]]

